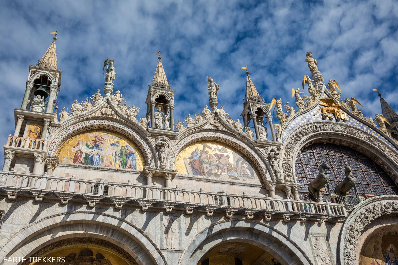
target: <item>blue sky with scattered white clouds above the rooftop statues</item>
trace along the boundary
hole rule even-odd
[[[245,71],[266,101],[291,98],[311,50],[341,98],[355,97],[365,115],[380,112],[373,88],[398,110],[398,2],[382,1],[8,1],[0,10],[2,64],[0,141],[14,132],[28,66],[57,30],[62,70],[59,109],[103,91],[103,61],[115,60],[115,89],[144,117],[148,84],[162,51],[175,94],[176,120],[208,104],[206,76],[220,85],[219,106],[240,118]],[[308,94],[308,91],[306,91]]]

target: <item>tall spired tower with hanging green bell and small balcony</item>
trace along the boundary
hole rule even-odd
[[[4,145],[5,171],[14,168],[21,173],[44,172],[47,129],[51,122],[57,122],[54,107],[61,84],[55,44],[57,31],[51,34],[55,34],[53,42],[43,57],[35,66],[29,66],[21,108],[14,109],[15,131]]]

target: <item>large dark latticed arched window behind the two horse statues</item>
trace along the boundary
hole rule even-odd
[[[369,157],[349,147],[330,143],[310,145],[298,155],[295,173],[297,182],[302,184],[300,191],[308,192],[308,183],[318,176],[319,166],[323,162],[331,166],[328,170],[331,191],[326,190],[326,193],[334,193],[336,185],[345,178],[345,166],[351,166],[352,173],[357,179],[359,195],[362,193],[398,195],[394,181]],[[355,195],[353,193],[354,190],[351,189],[350,195]]]

